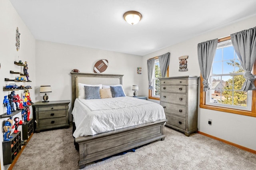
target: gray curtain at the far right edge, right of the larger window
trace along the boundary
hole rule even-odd
[[[256,76],[252,74],[252,66],[256,59],[256,27],[231,34],[230,37],[246,78],[241,90],[255,90]]]

